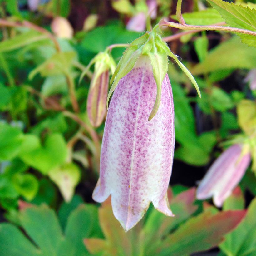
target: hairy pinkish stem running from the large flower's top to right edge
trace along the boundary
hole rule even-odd
[[[256,32],[250,31],[247,29],[241,29],[236,27],[223,27],[223,26],[194,26],[194,25],[187,25],[187,24],[180,24],[175,22],[169,22],[169,21],[160,21],[159,26],[168,26],[168,27],[175,27],[183,30],[220,30],[220,31],[227,31],[227,32],[234,32],[234,33],[242,33],[247,35],[256,36]]]

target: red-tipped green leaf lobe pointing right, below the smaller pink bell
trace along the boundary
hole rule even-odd
[[[189,255],[218,245],[224,234],[234,229],[244,218],[246,210],[204,212],[189,219],[177,231],[167,236],[152,255]]]

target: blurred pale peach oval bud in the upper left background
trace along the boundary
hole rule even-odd
[[[56,17],[51,24],[52,32],[60,38],[71,39],[73,37],[73,28],[69,21],[63,17]]]

